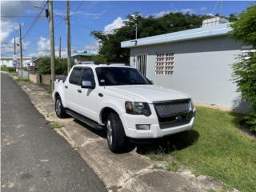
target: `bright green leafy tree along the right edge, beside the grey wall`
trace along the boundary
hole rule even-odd
[[[231,36],[234,39],[256,49],[256,5],[239,14],[238,20],[231,26]],[[256,131],[256,52],[249,52],[246,57],[240,55],[239,62],[234,64],[233,70],[238,90],[253,108],[253,112],[246,115],[246,122]]]

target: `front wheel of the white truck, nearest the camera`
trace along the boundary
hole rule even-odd
[[[129,144],[118,114],[110,113],[106,118],[106,139],[113,153],[122,153]]]

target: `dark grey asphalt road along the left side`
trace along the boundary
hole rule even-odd
[[[106,191],[79,154],[1,73],[1,191]]]

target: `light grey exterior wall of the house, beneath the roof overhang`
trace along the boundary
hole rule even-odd
[[[146,76],[154,84],[186,92],[195,102],[246,111],[249,106],[241,101],[231,77],[240,49],[225,36],[141,46],[130,49],[130,65],[135,65],[136,54],[148,54]],[[154,74],[157,52],[174,52],[174,74]]]

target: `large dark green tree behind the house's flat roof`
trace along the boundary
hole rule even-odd
[[[92,31],[90,34],[99,42],[99,54],[107,62],[129,63],[130,50],[122,49],[121,42],[135,38],[135,27],[138,27],[138,38],[146,38],[158,34],[166,34],[178,30],[188,30],[202,25],[202,19],[206,16],[195,14],[170,13],[161,18],[153,16],[142,17],[142,14],[134,13],[127,16],[125,26],[114,30],[112,34],[102,31]]]

